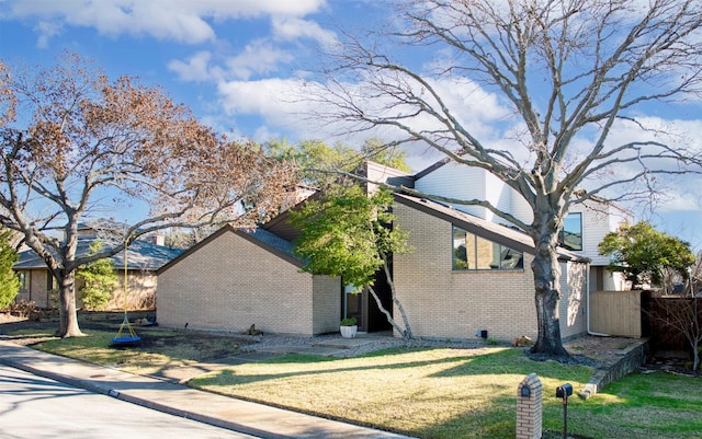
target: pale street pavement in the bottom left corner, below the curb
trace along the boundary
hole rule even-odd
[[[258,439],[0,365],[2,439]]]

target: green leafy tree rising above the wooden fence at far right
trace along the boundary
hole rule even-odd
[[[646,221],[608,233],[598,250],[610,256],[609,269],[622,273],[634,288],[663,286],[667,269],[687,280],[688,268],[694,264],[689,243],[657,231]]]

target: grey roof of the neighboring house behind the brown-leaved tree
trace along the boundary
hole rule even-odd
[[[80,240],[78,242],[79,256],[90,253],[90,240]],[[136,240],[127,247],[127,268],[147,272],[156,272],[171,259],[183,253],[180,249],[170,249],[163,245],[157,245],[148,241]],[[124,267],[124,251],[110,257],[115,268]],[[12,266],[14,269],[33,269],[46,268],[44,261],[33,250],[20,252],[20,261]]]

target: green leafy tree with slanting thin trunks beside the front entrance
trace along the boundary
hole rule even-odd
[[[296,242],[296,252],[307,259],[306,272],[340,276],[346,284],[367,288],[390,325],[404,338],[412,338],[390,272],[392,255],[407,253],[410,249],[407,233],[397,226],[390,227],[394,220],[389,211],[392,204],[393,194],[388,189],[367,195],[355,184],[337,185],[322,199],[308,200],[298,211],[291,212],[291,221],[303,231]],[[404,327],[383,307],[374,289],[380,269],[385,272]]]

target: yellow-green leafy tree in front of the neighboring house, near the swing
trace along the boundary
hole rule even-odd
[[[98,254],[102,247],[103,243],[95,241],[90,244],[90,253]],[[104,310],[118,281],[112,259],[105,257],[86,264],[76,272],[76,277],[83,281],[80,292],[86,309]]]

